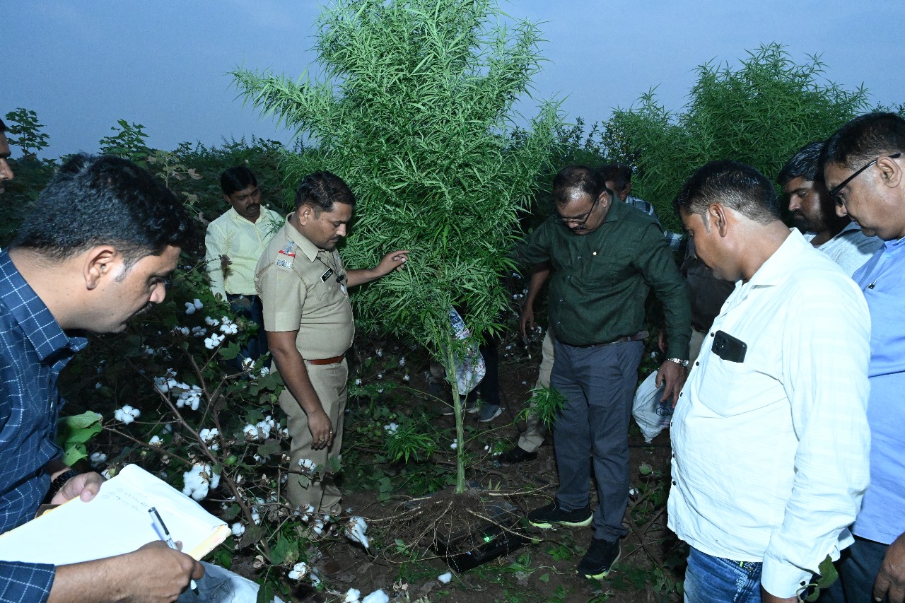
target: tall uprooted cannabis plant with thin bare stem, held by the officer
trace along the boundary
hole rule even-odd
[[[508,23],[508,24],[506,24]],[[336,0],[319,18],[319,80],[233,72],[246,101],[296,129],[315,151],[286,158],[287,179],[314,169],[343,177],[357,221],[343,250],[351,267],[411,251],[405,270],[356,292],[367,327],[420,341],[443,363],[465,488],[462,404],[452,338],[457,308],[472,339],[499,328],[500,276],[519,211],[546,167],[557,105],[516,131],[513,103],[541,61],[536,24],[491,0]]]

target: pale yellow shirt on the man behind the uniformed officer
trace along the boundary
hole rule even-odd
[[[283,217],[271,209],[261,208],[257,222],[236,213],[233,207],[214,222],[207,225],[205,235],[205,265],[211,279],[211,291],[253,295],[254,267],[273,235],[280,232]],[[231,264],[224,265],[221,256],[227,256]]]

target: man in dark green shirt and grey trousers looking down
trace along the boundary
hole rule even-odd
[[[553,181],[557,215],[516,249],[522,263],[549,261],[550,326],[556,361],[550,385],[567,399],[553,426],[559,490],[530,512],[539,528],[586,526],[594,538],[578,573],[605,577],[619,558],[628,503],[628,426],[643,354],[644,302],[653,289],[664,306],[667,357],[657,385],[677,400],[685,381],[691,310],[662,228],[649,215],[613,203],[591,168],[563,168]],[[588,505],[593,455],[599,503]]]

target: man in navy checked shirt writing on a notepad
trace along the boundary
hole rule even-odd
[[[0,121],[0,159],[9,148],[4,130]],[[0,184],[12,177],[4,162]],[[167,275],[191,236],[185,207],[147,170],[80,155],[60,168],[0,251],[0,533],[33,519],[45,498],[90,501],[100,490],[100,475],[76,474],[60,460],[57,376],[87,344],[76,333],[124,330],[163,302]],[[0,600],[174,601],[191,579],[202,591],[234,585],[252,600],[256,591],[158,541],[72,565],[0,560]],[[184,597],[198,600],[191,591]]]

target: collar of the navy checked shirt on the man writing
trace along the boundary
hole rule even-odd
[[[22,325],[25,337],[42,362],[62,349],[74,353],[88,345],[87,339],[69,337],[62,331],[51,311],[16,269],[7,250],[0,252],[0,302]]]

